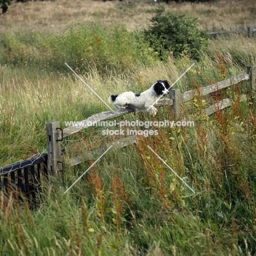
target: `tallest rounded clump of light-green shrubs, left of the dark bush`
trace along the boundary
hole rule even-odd
[[[99,72],[106,71],[106,67],[123,72],[154,58],[142,36],[127,32],[118,24],[108,27],[100,23],[77,24],[63,32],[56,44],[54,48],[61,51],[60,60],[65,57],[65,61],[85,70],[92,66]]]

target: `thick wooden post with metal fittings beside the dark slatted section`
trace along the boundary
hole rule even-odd
[[[48,151],[48,174],[54,176],[62,170],[61,140],[62,129],[59,121],[46,123],[46,139]]]

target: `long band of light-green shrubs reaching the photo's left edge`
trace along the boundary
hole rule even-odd
[[[67,70],[65,62],[80,71],[125,72],[153,63],[156,54],[143,33],[128,32],[122,25],[75,24],[59,35],[44,32],[2,33],[0,62],[43,70]]]

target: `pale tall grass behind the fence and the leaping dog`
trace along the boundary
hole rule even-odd
[[[107,69],[106,73],[91,68],[80,73],[98,95],[107,102],[109,95],[127,91],[142,92],[158,79],[174,82],[191,64],[184,56],[170,68],[169,63],[155,62],[151,66],[140,66],[135,71],[120,73]],[[233,63],[228,66],[227,77],[244,72]],[[221,79],[216,63],[206,55],[197,68],[191,69],[176,86],[181,91],[191,89],[191,79],[197,83],[211,84]],[[106,106],[79,79],[66,68],[66,74],[38,71],[37,67],[1,67],[1,165],[42,153],[45,150],[45,122],[59,120],[80,121],[101,112]],[[88,131],[82,132],[84,136]]]

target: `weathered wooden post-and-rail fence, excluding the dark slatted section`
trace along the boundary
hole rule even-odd
[[[199,89],[191,90],[184,92],[181,94],[179,89],[170,90],[170,98],[165,100],[160,100],[156,106],[169,106],[171,111],[174,113],[174,117],[176,119],[181,117],[181,106],[183,103],[193,100],[196,96],[205,96],[209,95],[212,92],[216,92],[218,90],[227,88],[231,85],[236,85],[240,82],[248,81],[250,85],[249,90],[255,91],[255,67],[248,66],[247,73],[242,73],[237,75],[236,77],[232,77],[230,79],[218,82],[213,85],[208,85],[206,87],[202,87]],[[245,94],[240,95],[240,101],[246,101],[247,96]],[[213,104],[210,107],[203,109],[203,113],[205,115],[210,115],[216,112],[216,109],[223,109],[231,105],[230,98],[225,98],[216,104]],[[52,121],[50,123],[46,123],[46,135],[47,135],[47,148],[48,148],[48,173],[54,175],[55,173],[63,171],[63,160],[60,153],[61,149],[61,141],[63,138],[70,136],[76,132],[79,132],[83,129],[88,129],[91,127],[93,122],[99,122],[103,120],[108,120],[116,117],[120,117],[122,115],[133,112],[132,109],[121,109],[121,110],[113,110],[108,112],[101,112],[92,115],[91,117],[82,120],[83,126],[71,126],[66,127],[65,129],[60,128],[59,121]],[[90,125],[88,125],[90,124]],[[125,147],[129,144],[136,142],[136,136],[125,137],[119,139],[118,141],[109,142],[105,147],[98,149],[95,152],[86,152],[82,155],[75,156],[71,159],[68,159],[67,162],[69,165],[77,165],[83,161],[93,160],[95,156],[99,154],[103,154],[104,151],[110,146],[113,145],[117,148]],[[85,149],[86,151],[86,149]]]

